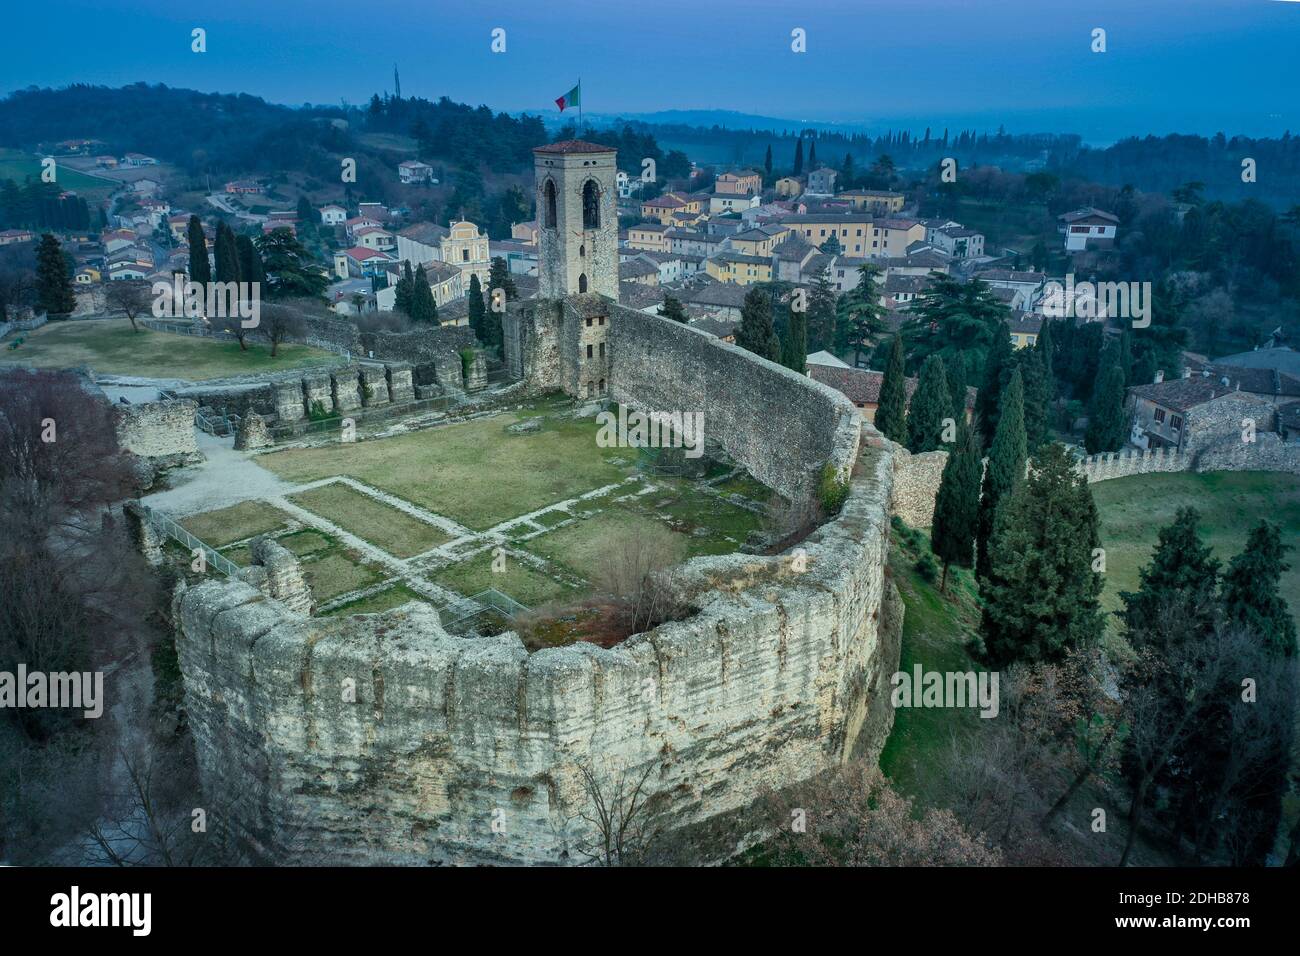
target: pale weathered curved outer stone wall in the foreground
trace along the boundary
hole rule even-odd
[[[892,481],[864,447],[806,564],[690,561],[673,587],[697,613],[611,649],[458,637],[420,604],[302,618],[243,581],[181,589],[209,816],[280,861],[578,862],[582,767],[606,792],[649,770],[649,813],[680,827],[836,766],[864,723],[878,747]]]

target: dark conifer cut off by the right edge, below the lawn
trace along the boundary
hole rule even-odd
[[[1296,653],[1296,622],[1278,584],[1291,568],[1282,559],[1291,545],[1282,544],[1277,524],[1261,520],[1245,540],[1245,549],[1223,572],[1223,617],[1247,628],[1274,654]]]

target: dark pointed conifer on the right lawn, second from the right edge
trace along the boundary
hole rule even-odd
[[[1156,536],[1150,563],[1139,571],[1135,592],[1121,592],[1124,609],[1119,613],[1132,635],[1162,635],[1165,628],[1150,627],[1160,614],[1179,605],[1196,614],[1192,631],[1206,635],[1214,627],[1214,597],[1218,588],[1219,562],[1209,545],[1201,544],[1197,524],[1200,512],[1180,507],[1171,524]],[[1153,648],[1162,650],[1162,648]]]

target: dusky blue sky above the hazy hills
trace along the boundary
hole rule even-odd
[[[164,82],[298,104],[391,88],[554,111],[736,109],[1013,131],[1300,133],[1280,0],[42,0],[10,3],[0,90]],[[204,27],[208,52],[190,52]],[[506,30],[506,53],[489,48]],[[807,52],[790,51],[790,30]],[[1105,53],[1091,33],[1106,30]]]

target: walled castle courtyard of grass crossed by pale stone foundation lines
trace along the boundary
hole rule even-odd
[[[520,423],[536,431],[508,431]],[[599,447],[597,431],[551,397],[386,438],[270,451],[254,460],[294,485],[283,497],[182,523],[242,566],[254,537],[273,536],[302,558],[321,614],[411,600],[441,607],[495,589],[549,615],[606,589],[625,548],[649,546],[668,566],[736,551],[762,528],[768,492],[744,471],[641,475],[636,453]],[[183,549],[174,557],[187,562]],[[556,619],[572,622],[567,614]],[[564,640],[585,635],[564,630]]]

